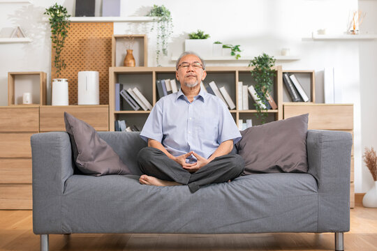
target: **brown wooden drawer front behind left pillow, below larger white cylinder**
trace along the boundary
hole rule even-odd
[[[108,105],[41,106],[40,131],[65,131],[64,112],[72,114],[100,131],[109,130]]]

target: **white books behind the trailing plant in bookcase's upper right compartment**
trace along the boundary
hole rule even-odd
[[[253,100],[256,102],[256,105],[260,107],[260,109],[277,109],[276,102],[272,98],[272,96],[267,91],[267,102],[263,103],[259,100],[256,89],[253,85],[248,86],[247,84],[243,84],[243,82],[238,82],[237,85],[237,92],[238,92],[238,109],[239,110],[248,110],[249,107],[249,95]]]

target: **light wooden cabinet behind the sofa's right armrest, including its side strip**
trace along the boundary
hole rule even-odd
[[[343,130],[353,135],[352,104],[285,103],[284,119],[309,113],[309,129]],[[353,147],[350,162],[350,207],[355,207]]]

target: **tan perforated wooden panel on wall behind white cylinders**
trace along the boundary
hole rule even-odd
[[[59,78],[68,79],[69,104],[77,105],[77,74],[82,70],[99,73],[100,104],[109,103],[109,67],[111,67],[111,36],[113,23],[71,23],[64,50],[66,69]],[[52,48],[53,49],[53,48]],[[54,50],[52,50],[52,79],[55,73]]]

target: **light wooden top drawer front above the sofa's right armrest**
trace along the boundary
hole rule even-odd
[[[309,113],[309,129],[353,130],[353,105],[284,105],[284,119]]]

